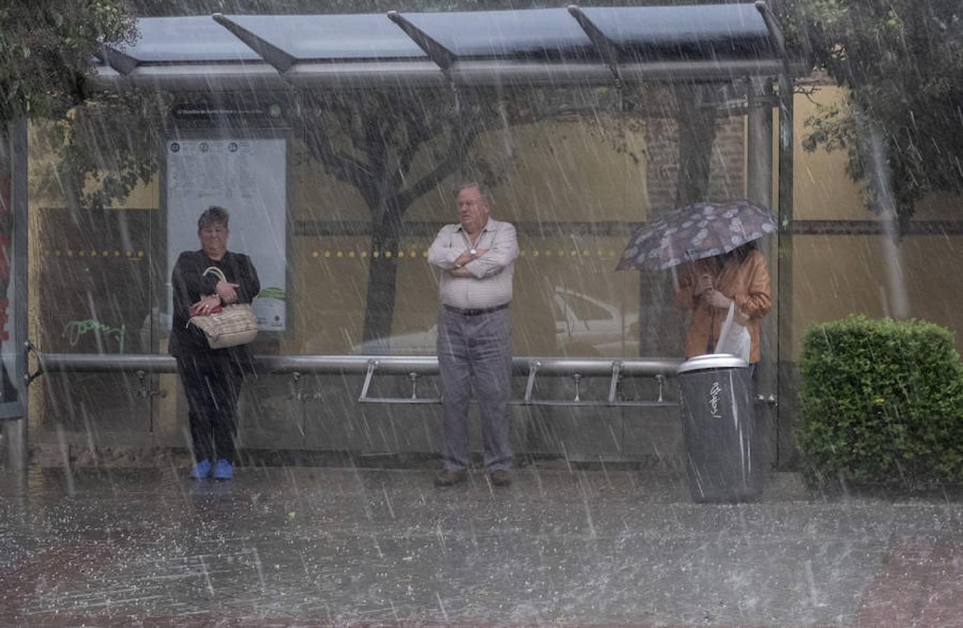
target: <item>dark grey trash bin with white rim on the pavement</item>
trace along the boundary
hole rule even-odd
[[[711,353],[683,362],[676,373],[692,499],[757,499],[768,462],[750,399],[748,365],[735,355]]]

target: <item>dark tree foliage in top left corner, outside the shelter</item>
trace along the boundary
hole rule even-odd
[[[101,42],[134,33],[124,0],[8,0],[0,6],[0,122],[64,116],[90,95]]]

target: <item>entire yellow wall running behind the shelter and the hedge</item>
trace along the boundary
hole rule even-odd
[[[845,174],[843,151],[809,153],[801,142],[805,120],[820,106],[841,102],[844,94],[832,86],[821,87],[795,99],[794,217],[800,221],[876,220],[863,206],[859,191]],[[624,237],[574,236],[566,222],[636,222],[649,211],[646,187],[645,140],[641,133],[612,138],[600,130],[611,119],[564,120],[494,132],[476,143],[477,155],[491,161],[502,174],[493,192],[493,215],[512,222],[553,223],[557,232],[545,236],[522,235],[522,255],[516,265],[515,343],[517,353],[560,353],[551,302],[557,289],[578,292],[610,303],[627,319],[638,315],[638,274],[615,273]],[[32,140],[36,137],[32,135]],[[616,151],[616,141],[627,142]],[[295,221],[369,221],[368,210],[348,184],[324,173],[292,142],[290,160],[290,211]],[[637,161],[638,159],[638,161]],[[49,152],[31,155],[32,176],[52,164]],[[471,161],[471,160],[470,160]],[[414,174],[430,163],[426,152],[416,162]],[[456,177],[418,199],[405,220],[454,222],[452,189]],[[32,196],[31,272],[42,266],[44,230],[41,207],[63,205],[63,199],[46,191]],[[156,208],[159,182],[142,186],[118,206]],[[921,203],[919,219],[953,219],[960,199],[933,196]],[[398,256],[397,299],[393,333],[424,331],[434,323],[437,310],[436,279],[425,260],[430,236],[403,239]],[[901,278],[891,276],[887,256],[891,247],[883,236],[794,237],[794,347],[808,325],[833,320],[851,312],[870,316],[895,313],[899,300],[908,303],[911,316],[960,329],[953,303],[963,301],[959,236],[907,236],[896,252]],[[368,236],[298,236],[289,252],[293,331],[278,350],[281,353],[348,353],[361,341],[367,290]],[[377,251],[383,254],[385,251]],[[31,284],[32,311],[49,286]],[[148,305],[149,306],[149,305]],[[38,320],[32,325],[36,327]],[[963,335],[963,334],[961,334]],[[39,337],[32,330],[32,337]],[[617,354],[635,353],[636,339],[625,338]],[[963,342],[959,338],[958,343]],[[569,351],[584,348],[570,348]]]

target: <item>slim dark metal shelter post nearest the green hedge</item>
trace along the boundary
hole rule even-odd
[[[794,425],[795,356],[793,327],[793,79],[779,75],[779,242],[777,245],[778,317],[776,355],[776,451],[778,468],[793,467],[797,451]]]

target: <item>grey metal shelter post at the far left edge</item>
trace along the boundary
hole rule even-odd
[[[18,351],[27,333],[27,121],[25,118],[10,124],[11,147],[11,192],[10,211],[13,229],[8,249],[11,265],[8,286],[10,321],[10,340],[16,346],[5,348],[15,352],[15,368],[8,374],[13,384],[15,399],[4,399],[5,408],[15,408],[11,414],[0,421],[3,425],[3,442],[7,449],[8,468],[25,472],[27,469],[27,390],[23,376],[27,371],[27,353]],[[6,397],[6,396],[5,396]],[[6,413],[6,412],[5,412]]]

